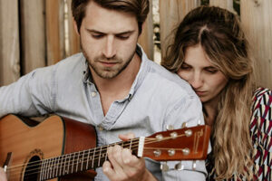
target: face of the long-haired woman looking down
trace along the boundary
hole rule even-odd
[[[178,74],[189,82],[202,103],[218,98],[228,82],[199,44],[185,50],[185,59]]]

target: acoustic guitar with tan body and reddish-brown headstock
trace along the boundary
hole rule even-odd
[[[90,180],[115,144],[158,161],[205,159],[209,133],[209,126],[175,129],[96,148],[89,124],[55,115],[37,123],[11,114],[0,119],[0,164],[10,181]]]

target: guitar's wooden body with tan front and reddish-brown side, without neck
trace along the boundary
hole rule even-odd
[[[7,115],[0,120],[0,166],[3,167],[8,152],[12,152],[7,171],[8,180],[38,180],[26,178],[26,166],[29,162],[58,157],[96,147],[96,133],[91,125],[72,119],[52,116],[40,124],[31,120],[22,120],[15,115]],[[19,166],[19,167],[18,167]],[[94,171],[54,178],[52,180],[92,180]]]

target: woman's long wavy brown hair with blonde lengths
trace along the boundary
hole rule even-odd
[[[237,15],[214,6],[199,6],[175,30],[174,42],[161,65],[177,72],[185,50],[200,44],[210,61],[228,77],[212,127],[213,171],[217,179],[234,174],[252,178],[250,104],[254,88],[253,60]]]

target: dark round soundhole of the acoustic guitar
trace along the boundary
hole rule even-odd
[[[25,171],[24,181],[37,181],[40,176],[41,158],[38,156],[31,157]]]

